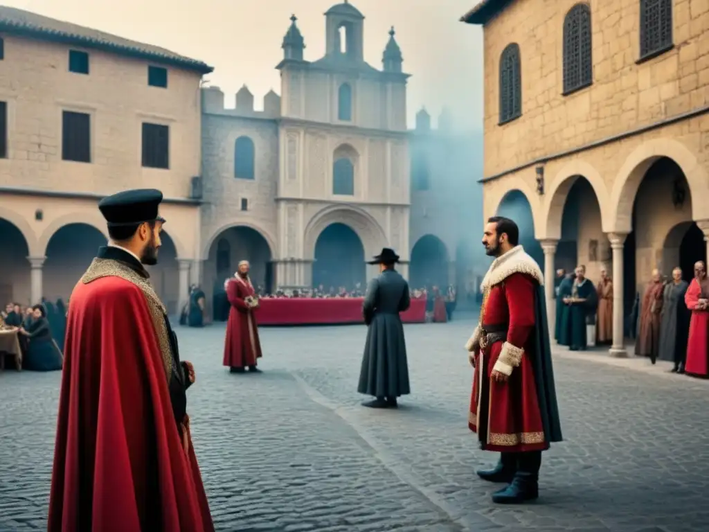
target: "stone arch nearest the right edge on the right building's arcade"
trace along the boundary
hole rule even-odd
[[[637,191],[647,170],[661,157],[668,157],[681,168],[692,198],[709,197],[708,174],[691,150],[671,138],[648,140],[628,155],[615,177],[608,207],[609,232],[632,231],[632,209]],[[709,218],[709,204],[706,201],[692,201],[692,218]]]

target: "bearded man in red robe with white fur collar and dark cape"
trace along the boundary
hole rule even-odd
[[[544,276],[518,245],[509,218],[489,218],[483,236],[496,257],[481,284],[480,322],[466,345],[474,366],[468,426],[481,448],[499,451],[483,480],[508,482],[492,499],[520,504],[538,497],[542,450],[562,440],[554,389]]]

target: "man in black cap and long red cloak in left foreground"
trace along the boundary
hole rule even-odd
[[[50,532],[212,532],[191,444],[181,362],[155,265],[159,190],[101,200],[107,246],[72,292],[52,472]]]

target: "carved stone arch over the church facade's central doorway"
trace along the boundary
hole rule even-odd
[[[352,205],[332,205],[325,207],[308,222],[303,241],[303,257],[315,258],[315,245],[320,233],[333,223],[343,223],[357,233],[364,246],[365,258],[379,254],[388,243],[386,233],[374,216]]]

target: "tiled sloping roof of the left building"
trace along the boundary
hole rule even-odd
[[[102,50],[136,59],[153,60],[186,70],[195,70],[201,74],[208,74],[214,70],[205,62],[179,55],[164,48],[138,43],[135,40],[111,35],[111,33],[58,21],[56,18],[13,7],[0,6],[0,31],[38,40]]]

